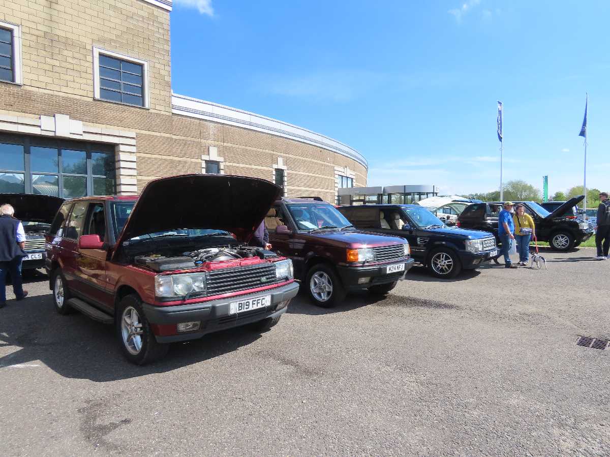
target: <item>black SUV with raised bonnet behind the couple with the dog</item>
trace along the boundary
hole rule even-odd
[[[535,201],[518,201],[525,212],[534,219],[538,241],[547,241],[557,251],[569,251],[593,235],[593,225],[573,218],[572,207],[583,200],[584,195],[570,198],[553,212],[548,212]],[[491,232],[498,239],[498,214],[503,202],[475,203],[467,206],[458,217],[462,228]]]

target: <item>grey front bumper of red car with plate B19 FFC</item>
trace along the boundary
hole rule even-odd
[[[290,284],[278,287],[277,289],[239,295],[239,297],[221,298],[203,303],[175,306],[154,306],[143,303],[142,308],[148,322],[152,325],[153,331],[158,326],[174,325],[180,322],[201,322],[201,327],[197,331],[171,335],[159,335],[157,334],[159,332],[154,332],[159,343],[171,343],[198,339],[208,333],[258,322],[268,317],[278,317],[284,314],[287,309],[287,306],[277,309],[278,305],[282,301],[291,300],[296,296],[298,290],[299,285],[296,282],[290,282]],[[239,314],[229,314],[230,303],[264,295],[271,295],[271,304],[265,308],[253,309],[252,311],[240,312]]]

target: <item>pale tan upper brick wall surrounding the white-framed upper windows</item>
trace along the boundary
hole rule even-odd
[[[98,46],[148,61],[150,108],[171,112],[166,10],[140,0],[0,0],[0,20],[21,26],[24,86],[93,98]]]

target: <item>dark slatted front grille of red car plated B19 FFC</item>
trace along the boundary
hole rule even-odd
[[[266,280],[265,280],[265,279]],[[276,284],[273,264],[258,264],[252,267],[221,268],[206,274],[207,296],[239,292],[254,287]]]

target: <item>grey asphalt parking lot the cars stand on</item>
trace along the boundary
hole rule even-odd
[[[29,275],[0,310],[0,453],[610,455],[610,348],[576,345],[610,338],[610,261],[544,255],[450,281],[414,269],[331,310],[300,295],[268,333],[146,367]]]

